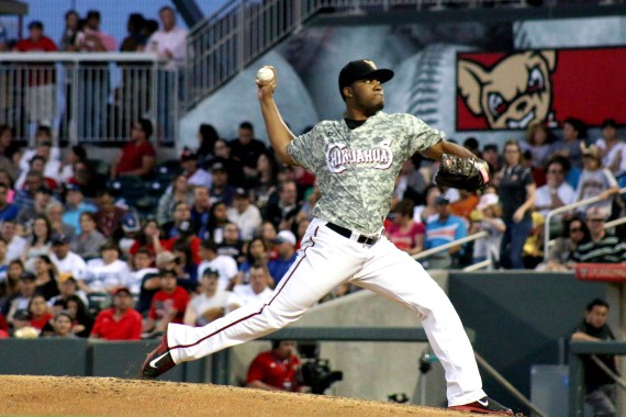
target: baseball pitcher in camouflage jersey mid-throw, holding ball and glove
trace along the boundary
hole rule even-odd
[[[385,237],[395,178],[413,154],[440,160],[436,181],[477,189],[489,181],[487,165],[410,114],[382,112],[382,83],[393,77],[371,60],[348,63],[339,72],[346,103],[343,120],[324,121],[294,136],[273,100],[278,75],[259,71],[258,99],[269,140],[280,159],[315,173],[317,202],[298,259],[264,305],[245,306],[204,327],[170,324],[148,354],[142,374],[156,377],[178,363],[270,334],[298,320],[345,282],[371,290],[415,312],[446,371],[448,406],[513,415],[489,398],[471,343],[444,291],[422,266]]]

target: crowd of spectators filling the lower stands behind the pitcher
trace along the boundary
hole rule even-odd
[[[533,125],[526,140],[501,148],[466,140],[492,171],[480,194],[441,189],[433,183],[436,162],[407,161],[387,237],[415,256],[487,232],[485,239],[422,259],[428,269],[488,259],[491,268],[544,270],[626,261],[623,237],[604,228],[623,213],[616,194],[626,147],[612,120],[597,140],[581,126],[568,120],[558,138]],[[178,160],[157,162],[150,136],[150,122],[136,121],[109,169],[96,172],[82,147],[53,146],[46,126],[33,148],[12,146],[11,128],[0,126],[2,335],[155,337],[168,323],[201,326],[271,294],[298,257],[321,195],[315,178],[278,164],[248,122],[230,140],[200,126],[198,147]],[[143,195],[156,185],[149,207],[133,205],[134,188]],[[556,244],[544,262],[546,214],[594,196],[552,218]],[[342,285],[323,301],[354,291]]]

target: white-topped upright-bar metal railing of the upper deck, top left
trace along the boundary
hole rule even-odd
[[[29,142],[46,124],[69,144],[126,142],[138,119],[174,144],[180,72],[150,53],[2,53],[0,124]]]

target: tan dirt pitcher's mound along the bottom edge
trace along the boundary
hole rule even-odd
[[[0,398],[0,415],[468,416],[443,408],[114,377],[2,375]]]

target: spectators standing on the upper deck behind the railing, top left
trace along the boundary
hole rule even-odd
[[[158,21],[132,13],[123,38],[105,32],[102,20],[99,10],[89,10],[85,15],[69,10],[65,13],[65,25],[58,40],[46,33],[44,22],[34,20],[29,22],[23,37],[20,34],[19,40],[0,40],[0,53],[146,52],[158,56],[158,91],[172,90],[176,70],[185,65],[188,34],[187,30],[177,26],[176,10],[168,5],[158,9]],[[54,126],[55,132],[58,127],[63,139],[76,135],[94,139],[111,135],[119,138],[125,134],[122,131],[128,128],[132,119],[150,112],[150,80],[146,71],[148,67],[144,64],[120,64],[119,83],[112,79],[105,60],[82,61],[79,71],[67,70],[70,68],[68,65],[60,68],[65,70],[59,71],[59,66],[54,63],[32,61],[11,68],[11,71],[20,71],[14,77],[26,78],[24,86],[20,86],[22,81],[10,81],[13,76],[2,79],[5,89],[3,102],[10,113],[8,120],[12,121],[12,127],[20,133],[21,139],[31,136],[35,125]],[[57,109],[57,95],[63,98],[60,102],[65,106],[62,109]],[[163,121],[157,127],[159,137],[166,133],[171,136],[172,126],[167,115],[174,112],[172,104],[169,97],[161,95],[152,113],[158,114],[156,119]]]

